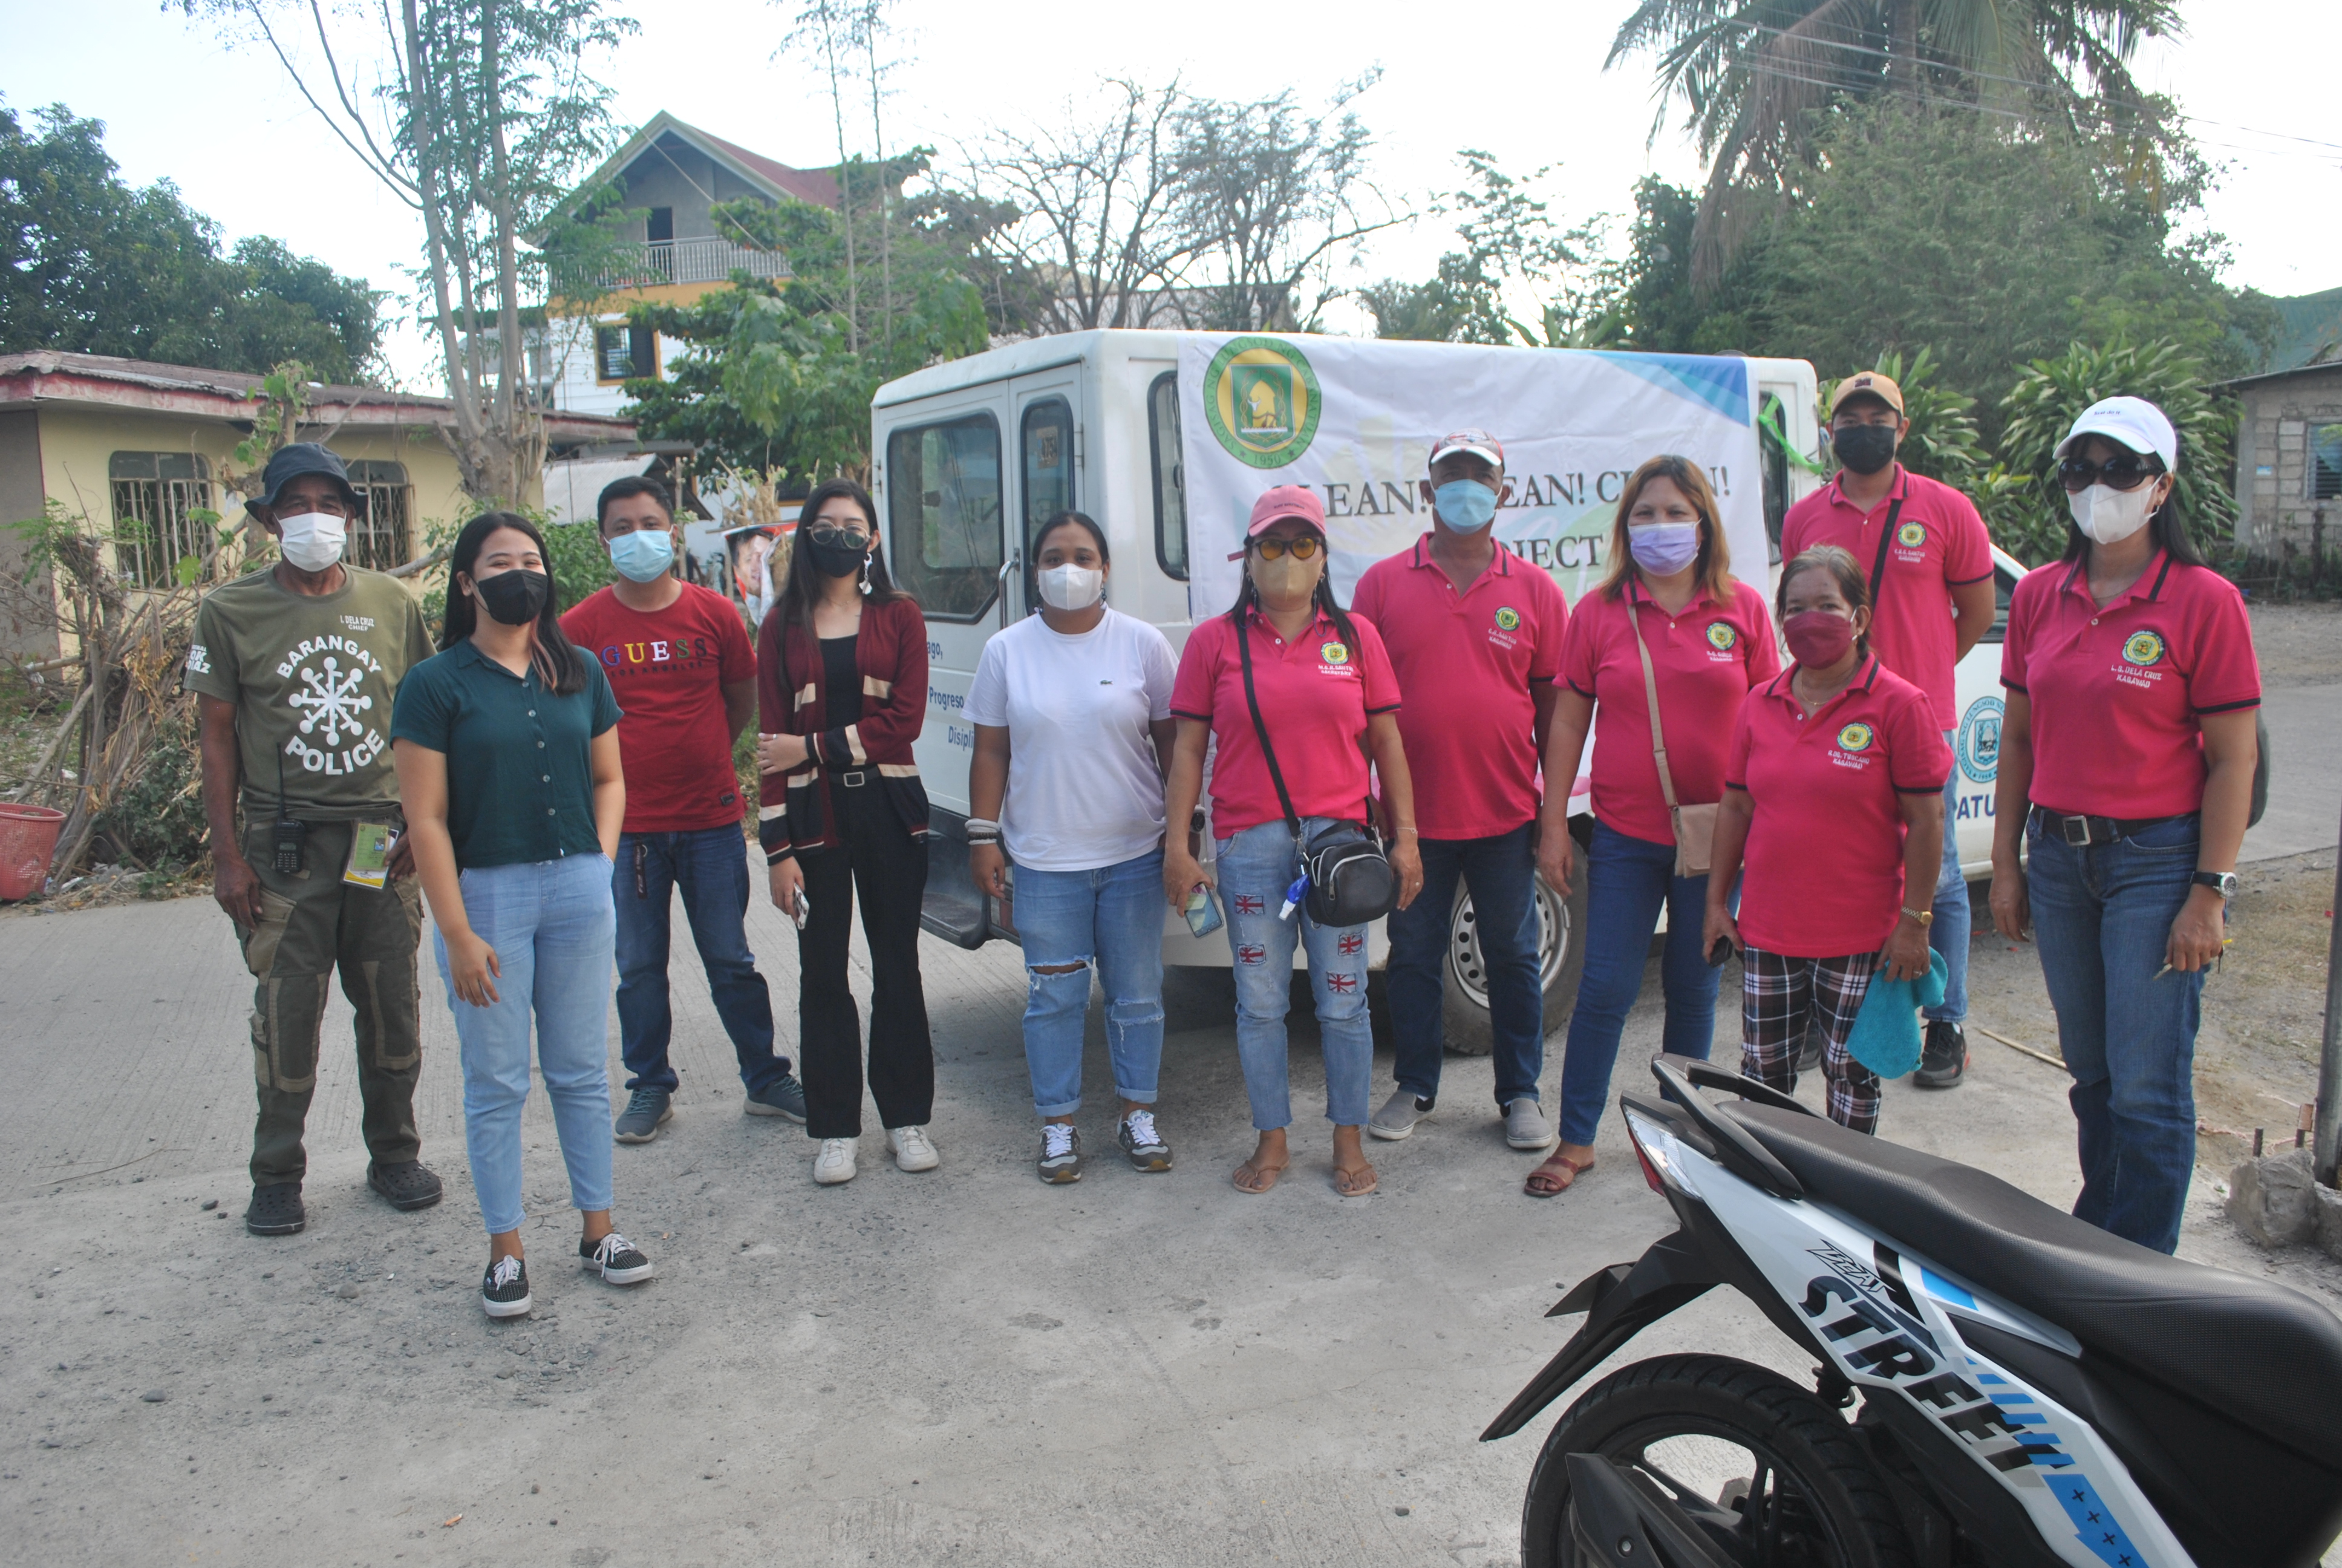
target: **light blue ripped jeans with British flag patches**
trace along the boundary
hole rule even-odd
[[[1304,816],[1302,839],[1333,827]],[[1227,909],[1227,949],[1237,959],[1237,1062],[1253,1102],[1253,1130],[1293,1123],[1286,1083],[1286,1005],[1293,1001],[1293,945],[1309,949],[1309,994],[1316,996],[1326,1050],[1326,1120],[1365,1125],[1365,1095],[1375,1073],[1375,1029],[1365,1017],[1365,926],[1319,926],[1307,909],[1281,921],[1286,888],[1302,874],[1300,851],[1283,823],[1260,823],[1220,839],[1220,905]]]

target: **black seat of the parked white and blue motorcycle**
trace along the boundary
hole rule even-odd
[[[2342,1320],[2300,1291],[2164,1256],[2000,1177],[1752,1102],[1719,1106],[1864,1226],[2176,1395],[2342,1472]]]

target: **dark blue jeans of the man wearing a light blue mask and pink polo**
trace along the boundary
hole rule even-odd
[[[1487,1022],[1497,1057],[1497,1109],[1539,1099],[1546,1071],[1546,987],[1536,975],[1536,855],[1529,825],[1492,839],[1424,839],[1424,891],[1391,912],[1391,1064],[1398,1088],[1438,1099],[1443,980],[1457,879],[1471,888]]]

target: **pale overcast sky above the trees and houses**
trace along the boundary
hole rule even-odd
[[[307,9],[307,7],[302,7]],[[330,7],[328,7],[330,9]],[[370,9],[370,7],[365,7]],[[792,59],[771,59],[792,5],[663,0],[625,5],[639,38],[609,61],[616,113],[658,110],[789,164],[834,162],[827,101]],[[1180,73],[1218,96],[1293,87],[1323,98],[1382,68],[1358,101],[1377,136],[1375,178],[1403,206],[1454,185],[1457,148],[1485,148],[1508,171],[1555,164],[1564,220],[1632,209],[1644,173],[1693,183],[1700,164],[1672,129],[1649,143],[1649,63],[1602,70],[1628,0],[1461,9],[1333,0],[1192,0],[1119,7],[1021,0],[897,0],[909,63],[895,77],[888,138],[946,150],[1002,120],[1059,117],[1108,75]],[[2197,117],[2223,164],[2206,225],[2227,234],[2230,281],[2276,295],[2342,284],[2342,127],[2333,101],[2342,5],[2333,0],[2183,0],[2178,42],[2150,40],[2136,70]],[[1440,21],[1454,30],[1438,30]],[[333,141],[260,49],[227,47],[157,0],[0,0],[0,96],[23,113],[66,103],[108,124],[108,150],[133,183],[178,180],[230,241],[276,234],[335,270],[398,291],[422,227]],[[1426,277],[1452,244],[1440,220],[1377,237],[1363,277]],[[400,330],[393,366],[431,380],[429,347]]]

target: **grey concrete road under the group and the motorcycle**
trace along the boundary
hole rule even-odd
[[[794,942],[768,907],[752,940],[794,1034]],[[2038,1027],[2028,961],[1995,959],[2005,975],[1981,987],[1979,1022]],[[1297,1163],[1246,1198],[1227,1184],[1251,1144],[1244,1090],[1225,998],[1204,987],[1173,1015],[1164,1064],[1178,1170],[1138,1177],[1108,1158],[1094,1015],[1082,1125],[1096,1160],[1080,1186],[1045,1188],[1016,954],[930,940],[925,963],[941,1172],[885,1165],[874,1125],[864,1174],[815,1188],[799,1130],[740,1116],[728,1045],[679,952],[682,1113],[660,1141],[616,1151],[618,1221],[660,1277],[614,1291],[569,1266],[576,1221],[534,1095],[539,1305],[487,1324],[436,984],[419,1116],[447,1202],[403,1216],[365,1193],[342,1010],[311,1116],[311,1226],[253,1240],[237,1221],[251,982],[227,921],[197,900],[0,919],[0,1193],[19,1259],[0,1320],[7,1556],[1515,1563],[1548,1423],[1473,1439],[1564,1341],[1574,1320],[1541,1317],[1557,1291],[1668,1228],[1618,1118],[1600,1167],[1534,1202],[1520,1195],[1529,1160],[1497,1134],[1487,1062],[1450,1059],[1438,1113],[1372,1146],[1382,1193],[1344,1202],[1314,1041],[1295,1029]],[[1646,1083],[1656,989],[1618,1088]],[[1733,1029],[1726,1008],[1726,1048]],[[2066,1205],[2063,1076],[1986,1041],[1977,1052],[1951,1095],[1892,1085],[1885,1132]],[[1557,1055],[1555,1038],[1548,1102]],[[611,1059],[616,1080],[616,1034]],[[1386,1073],[1384,1059],[1377,1090]],[[2187,1256],[2342,1301],[2342,1268],[2269,1261],[2216,1205],[2204,1172]],[[1630,1355],[1679,1348],[1806,1371],[1724,1294]]]

